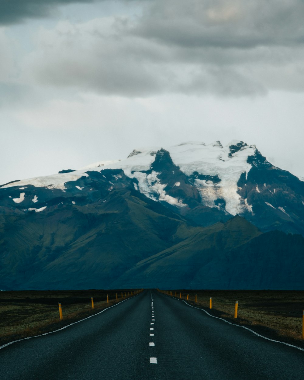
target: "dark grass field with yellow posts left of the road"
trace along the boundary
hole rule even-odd
[[[138,290],[136,290],[138,291]],[[53,331],[89,317],[122,299],[134,290],[47,290],[0,292],[0,345],[12,340]],[[116,299],[116,293],[117,298]],[[107,294],[109,303],[107,303]],[[123,298],[122,298],[123,296]],[[92,309],[91,297],[94,301]],[[59,317],[62,304],[63,319]]]

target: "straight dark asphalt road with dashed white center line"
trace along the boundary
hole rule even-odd
[[[0,377],[6,380],[290,380],[303,378],[303,363],[304,351],[155,290],[0,349]]]

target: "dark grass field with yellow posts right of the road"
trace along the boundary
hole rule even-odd
[[[171,292],[171,290],[169,290]],[[174,290],[173,296],[261,335],[304,347],[302,312],[304,291],[289,290]],[[195,294],[197,302],[195,303]],[[212,309],[209,300],[212,298]],[[234,306],[238,301],[237,318]]]

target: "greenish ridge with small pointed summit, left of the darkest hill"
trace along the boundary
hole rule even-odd
[[[113,286],[127,283],[145,283],[147,287],[162,284],[167,288],[185,287],[204,266],[217,257],[224,257],[232,247],[242,245],[261,234],[244,218],[236,216],[226,223],[218,222],[206,228],[197,228],[192,236],[176,245],[142,260],[114,282]],[[207,282],[204,280],[204,287]],[[199,282],[199,286],[202,282]]]

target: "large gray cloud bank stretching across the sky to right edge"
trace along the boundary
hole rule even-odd
[[[301,0],[155,0],[142,9],[40,30],[24,76],[126,97],[304,91]]]

